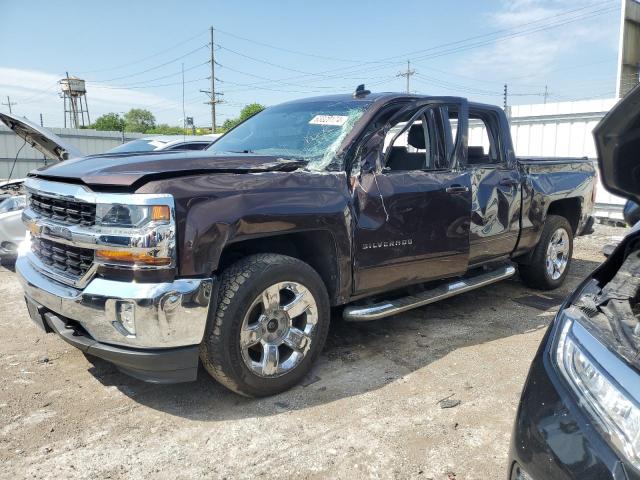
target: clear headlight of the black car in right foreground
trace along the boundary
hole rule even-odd
[[[575,307],[560,313],[557,366],[617,450],[640,468],[638,373],[582,326],[581,315]]]

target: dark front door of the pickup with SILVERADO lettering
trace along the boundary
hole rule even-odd
[[[448,108],[433,103],[395,115],[378,132],[379,159],[354,184],[354,289],[391,290],[463,274],[469,255],[471,184],[456,168],[464,127],[453,142]]]

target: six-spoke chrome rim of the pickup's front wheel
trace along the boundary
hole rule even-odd
[[[240,350],[245,365],[259,377],[285,375],[309,353],[318,307],[297,282],[279,282],[253,301],[242,321]]]

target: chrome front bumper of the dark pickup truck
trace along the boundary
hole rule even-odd
[[[195,378],[197,346],[204,336],[213,279],[135,283],[94,278],[79,290],[50,279],[28,256],[18,256],[16,272],[27,302],[35,305],[45,329],[138,378],[177,381],[162,372],[189,369],[192,372],[177,377]],[[116,310],[121,303],[133,309],[135,334],[118,321]],[[155,380],[154,371],[159,372]]]

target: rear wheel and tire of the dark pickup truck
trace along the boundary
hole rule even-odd
[[[559,247],[559,243],[556,244],[555,240],[558,238],[554,235],[564,235],[565,246]],[[553,266],[547,268],[547,253],[553,257],[552,251],[549,251],[550,244],[554,241],[555,245],[558,245],[558,251],[562,250],[563,253],[558,253],[555,257],[560,258],[560,255],[564,257],[564,251],[566,250],[566,263],[562,270],[553,269]],[[520,265],[518,270],[520,272],[520,278],[522,281],[531,288],[539,290],[553,290],[558,288],[564,283],[571,266],[571,258],[573,255],[573,230],[569,221],[558,215],[547,215],[547,220],[540,236],[540,241],[533,250],[530,261],[526,265]],[[557,263],[562,263],[560,260]],[[557,267],[558,265],[556,265]],[[553,274],[550,269],[553,270]]]

